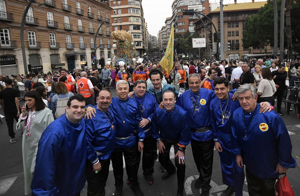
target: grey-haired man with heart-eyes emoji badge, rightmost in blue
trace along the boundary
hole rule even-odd
[[[296,167],[289,133],[276,112],[259,112],[256,89],[251,84],[239,87],[235,95],[241,105],[232,117],[236,163],[241,168],[246,165],[249,195],[275,195],[278,176]]]

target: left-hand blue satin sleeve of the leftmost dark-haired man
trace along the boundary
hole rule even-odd
[[[58,195],[55,186],[56,160],[61,149],[61,139],[48,133],[39,141],[35,172],[31,183],[32,195]],[[46,156],[44,156],[46,155]]]

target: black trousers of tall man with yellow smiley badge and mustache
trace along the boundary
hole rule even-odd
[[[199,172],[200,188],[202,191],[208,191],[211,189],[209,183],[214,160],[214,141],[197,141],[192,139],[191,146],[194,161]]]

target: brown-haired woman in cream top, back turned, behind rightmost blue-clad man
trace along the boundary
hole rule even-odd
[[[269,68],[262,68],[262,78],[263,79],[259,82],[257,87],[256,93],[259,95],[257,103],[268,101],[271,102],[272,106],[274,106],[275,99],[273,95],[276,92],[276,86]]]

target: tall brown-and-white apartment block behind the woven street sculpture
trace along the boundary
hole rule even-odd
[[[113,31],[130,32],[136,44],[136,55],[144,55],[147,49],[147,29],[142,0],[110,0],[110,7],[113,8],[111,13]]]

